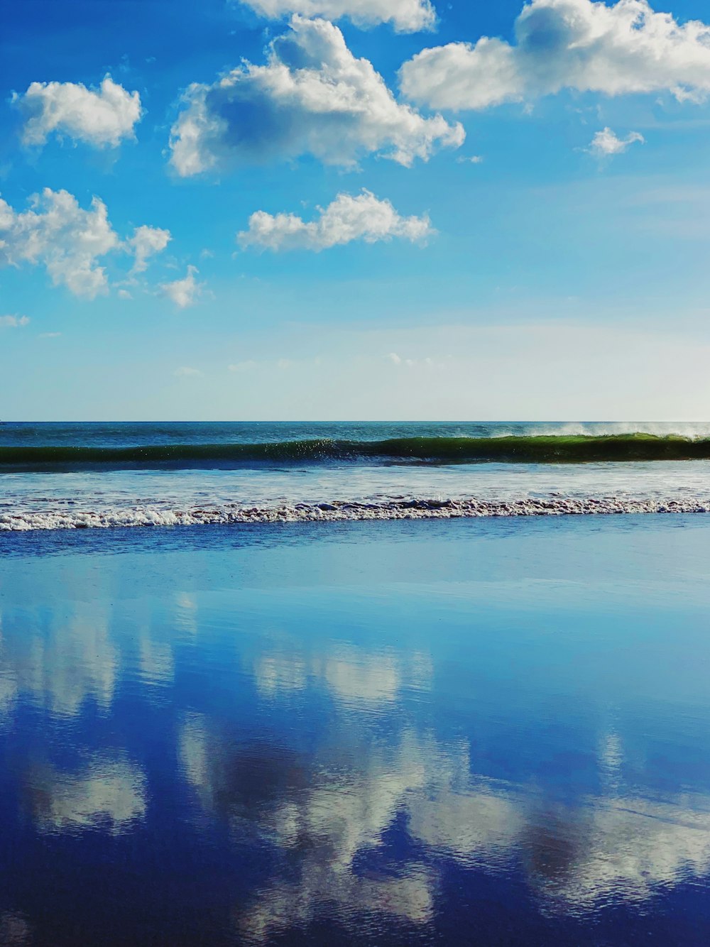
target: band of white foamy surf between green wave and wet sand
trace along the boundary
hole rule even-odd
[[[710,461],[17,473],[2,487],[0,531],[705,512]]]

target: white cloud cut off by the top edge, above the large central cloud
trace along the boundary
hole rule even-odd
[[[243,0],[261,16],[276,19],[291,13],[323,16],[328,20],[347,17],[359,27],[391,23],[398,32],[433,29],[435,9],[430,0]]]

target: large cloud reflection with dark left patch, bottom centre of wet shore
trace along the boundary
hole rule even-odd
[[[242,936],[266,940],[312,920],[325,904],[344,917],[376,911],[417,924],[432,919],[433,867],[410,860],[362,874],[356,859],[382,848],[413,797],[453,791],[468,775],[463,745],[442,756],[432,737],[406,732],[395,745],[333,747],[334,759],[313,760],[278,745],[230,744],[193,716],[180,747],[204,808],[228,819],[242,841],[256,834],[280,849],[289,865],[240,914]]]

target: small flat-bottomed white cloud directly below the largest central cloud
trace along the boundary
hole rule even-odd
[[[429,218],[400,217],[389,201],[381,201],[368,190],[352,197],[338,194],[310,222],[295,214],[267,214],[257,210],[249,218],[249,229],[238,234],[242,247],[267,250],[323,250],[336,244],[363,240],[366,243],[401,237],[422,241],[434,233]]]

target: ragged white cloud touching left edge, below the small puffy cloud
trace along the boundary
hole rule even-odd
[[[108,291],[101,257],[123,247],[135,256],[134,272],[141,272],[147,257],[168,241],[169,231],[141,226],[121,243],[98,197],[84,210],[68,191],[44,188],[22,212],[0,198],[0,266],[44,266],[55,286],[86,299]]]

